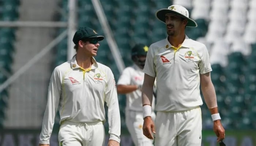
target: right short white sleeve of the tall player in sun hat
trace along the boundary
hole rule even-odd
[[[199,62],[199,71],[200,74],[205,74],[212,71],[209,53],[205,45],[203,45],[202,47],[201,61]]]

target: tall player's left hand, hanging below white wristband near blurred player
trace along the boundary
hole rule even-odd
[[[149,138],[149,139],[154,139],[152,132],[155,134],[155,124],[153,120],[151,119],[151,116],[147,116],[144,118],[144,123],[143,123],[143,134]]]

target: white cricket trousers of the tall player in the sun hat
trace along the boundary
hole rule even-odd
[[[157,112],[155,146],[201,146],[200,107],[182,112]]]

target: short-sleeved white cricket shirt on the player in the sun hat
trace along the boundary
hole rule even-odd
[[[153,43],[143,72],[157,80],[156,111],[186,111],[203,104],[200,74],[210,72],[211,64],[204,44],[185,37],[178,48],[168,39]]]

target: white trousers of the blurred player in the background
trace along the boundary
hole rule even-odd
[[[155,113],[152,113],[152,119],[155,119]],[[153,140],[143,135],[143,113],[140,111],[125,110],[125,124],[132,137],[135,146],[154,146]]]

